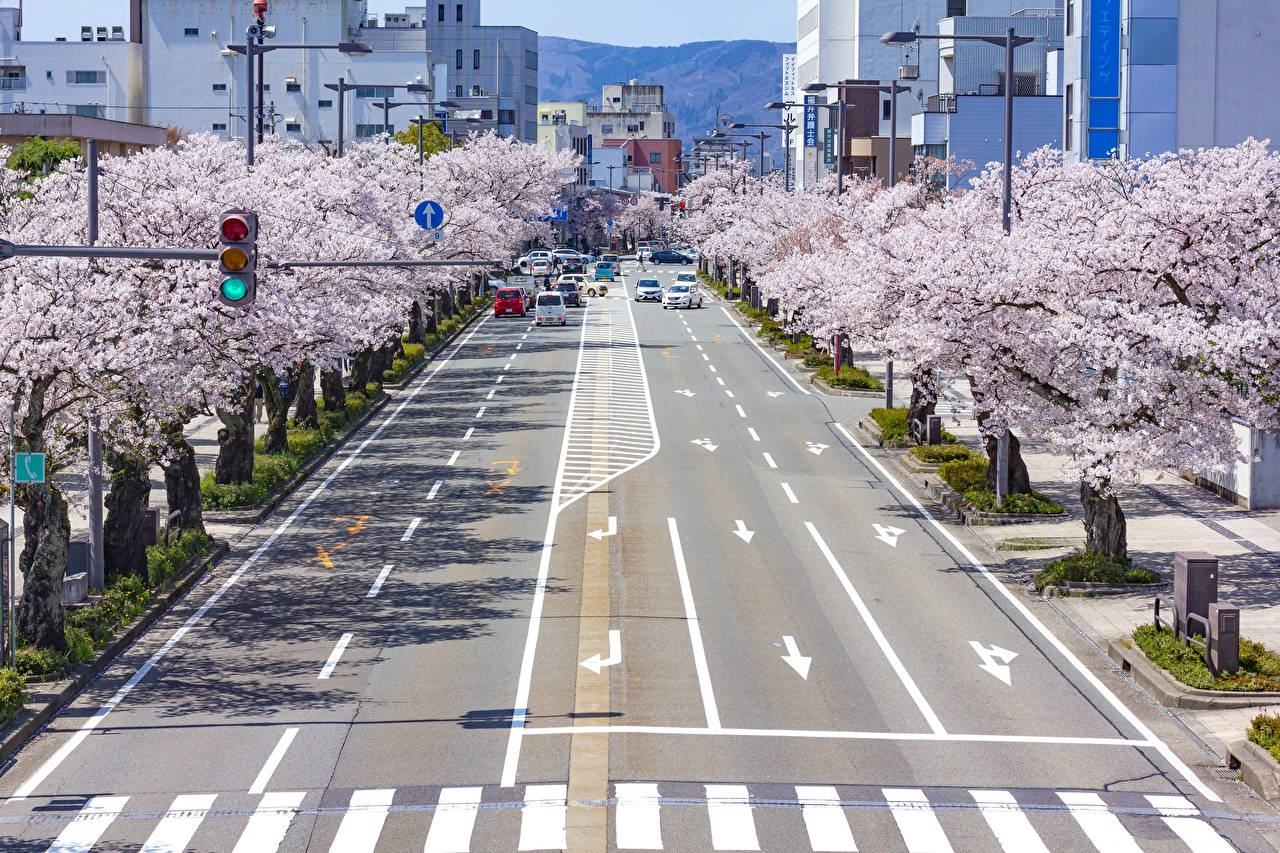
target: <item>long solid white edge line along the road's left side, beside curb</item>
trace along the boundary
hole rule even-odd
[[[209,598],[205,599],[205,603],[201,605],[196,610],[195,613],[192,613],[191,616],[187,617],[187,621],[184,621],[182,624],[182,628],[179,628],[178,630],[175,630],[173,633],[173,635],[169,637],[169,639],[166,639],[164,642],[164,644],[160,648],[157,648],[151,654],[151,657],[148,657],[147,661],[142,666],[138,667],[138,670],[133,675],[129,676],[129,680],[125,681],[124,684],[122,684],[120,688],[111,695],[110,699],[108,699],[101,707],[99,707],[99,710],[95,711],[93,715],[88,720],[86,720],[83,724],[81,724],[81,727],[76,730],[76,734],[73,734],[67,740],[67,743],[64,743],[61,747],[59,747],[58,752],[55,752],[52,756],[50,756],[45,761],[45,763],[42,763],[40,766],[40,768],[36,772],[33,772],[31,776],[28,776],[27,780],[24,783],[22,783],[17,788],[17,790],[14,790],[13,795],[9,797],[9,799],[5,800],[5,802],[15,802],[15,800],[23,800],[23,799],[26,799],[27,797],[31,795],[31,793],[33,790],[36,790],[37,786],[40,786],[40,784],[42,781],[45,781],[49,777],[50,774],[52,774],[58,768],[59,765],[61,765],[64,761],[67,761],[67,757],[69,754],[72,754],[73,752],[76,752],[76,748],[79,747],[84,742],[84,739],[88,738],[88,735],[92,734],[92,731],[95,729],[97,729],[99,725],[102,724],[102,720],[106,719],[106,715],[109,715],[111,711],[114,711],[116,708],[116,706],[119,706],[120,702],[123,702],[125,699],[125,697],[128,697],[129,693],[133,692],[133,688],[136,688],[138,685],[138,683],[142,681],[142,679],[147,678],[147,675],[151,674],[151,670],[155,669],[155,665],[159,663],[161,660],[164,660],[165,654],[168,654],[170,651],[173,651],[174,646],[177,646],[178,643],[182,642],[182,639],[187,635],[187,633],[191,631],[191,629],[195,628],[200,622],[200,620],[205,617],[205,615],[214,607],[214,605],[216,605],[219,601],[221,601],[223,596],[225,596],[227,592],[232,587],[234,587],[237,583],[239,583],[239,579],[244,576],[244,573],[248,571],[250,567],[252,567],[253,564],[256,564],[262,557],[264,553],[266,553],[268,548],[270,548],[273,544],[275,544],[275,542],[282,535],[284,535],[284,532],[288,530],[293,525],[294,521],[297,521],[298,516],[301,516],[303,512],[307,511],[307,507],[310,507],[311,503],[317,497],[320,497],[320,494],[325,489],[329,488],[329,484],[333,483],[334,479],[337,479],[339,474],[342,474],[344,470],[347,470],[348,465],[351,465],[353,461],[356,461],[356,459],[358,459],[360,455],[365,452],[366,447],[369,447],[371,443],[374,443],[375,441],[378,441],[378,437],[383,434],[383,430],[387,429],[388,426],[390,426],[392,423],[396,421],[396,419],[399,416],[399,414],[402,411],[404,411],[404,407],[408,406],[411,402],[413,402],[413,400],[422,391],[422,388],[425,388],[428,386],[428,383],[431,382],[431,379],[435,379],[435,377],[442,370],[444,370],[444,368],[448,366],[448,364],[451,361],[453,361],[454,357],[457,357],[458,352],[462,351],[462,347],[467,346],[471,342],[471,338],[474,338],[476,336],[476,333],[480,332],[480,329],[484,327],[484,324],[488,323],[492,319],[493,319],[493,315],[490,314],[490,315],[484,316],[479,323],[476,323],[476,328],[471,329],[471,332],[467,334],[467,337],[462,338],[462,341],[460,341],[458,345],[456,347],[453,347],[453,351],[449,352],[449,355],[447,355],[440,361],[440,364],[434,370],[431,370],[430,374],[428,374],[421,382],[419,382],[413,387],[413,391],[411,391],[410,394],[396,407],[396,411],[393,411],[390,415],[388,415],[387,419],[383,420],[383,423],[379,424],[378,428],[369,435],[369,438],[366,438],[365,441],[362,441],[356,447],[356,450],[352,451],[347,456],[347,459],[344,459],[342,461],[342,464],[338,465],[338,467],[335,467],[333,471],[330,471],[329,476],[326,476],[320,483],[320,485],[317,485],[302,501],[302,503],[300,503],[298,507],[296,510],[293,510],[293,512],[289,514],[289,517],[287,517],[284,521],[282,521],[280,525],[275,530],[271,532],[271,535],[269,535],[262,542],[262,544],[260,544],[257,547],[257,549],[253,551],[253,553],[251,553],[248,556],[248,558],[244,560],[244,562],[242,562],[236,569],[236,571],[233,571],[227,578],[227,580],[224,580],[223,584],[218,589],[215,589],[214,593]],[[193,587],[193,589],[195,589],[195,587]],[[183,597],[183,599],[186,599],[186,597]]]

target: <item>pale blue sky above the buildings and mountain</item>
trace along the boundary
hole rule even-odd
[[[424,0],[370,0],[370,12],[401,12]],[[15,5],[17,0],[3,0]],[[251,6],[243,0],[244,8]],[[520,24],[544,36],[611,45],[678,45],[718,38],[795,41],[795,0],[484,0],[484,23]],[[749,13],[744,13],[750,9]],[[128,28],[128,0],[27,0],[23,37],[79,37],[81,24]]]

